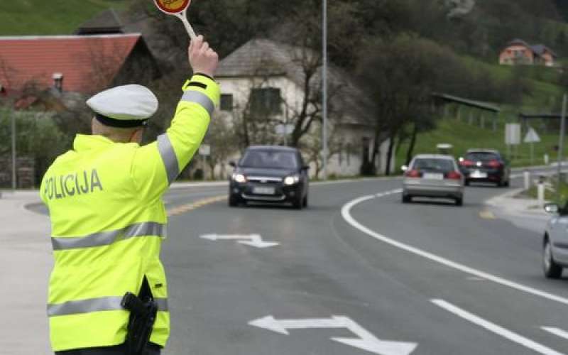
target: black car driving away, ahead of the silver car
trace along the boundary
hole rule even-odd
[[[494,182],[498,186],[509,186],[510,165],[501,153],[493,149],[470,149],[459,158],[459,169],[470,182]]]

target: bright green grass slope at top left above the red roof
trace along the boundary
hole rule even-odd
[[[97,13],[124,9],[126,0],[0,1],[0,35],[70,34]]]

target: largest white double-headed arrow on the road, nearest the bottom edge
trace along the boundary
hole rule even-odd
[[[275,320],[273,316],[259,318],[249,322],[253,327],[268,329],[273,332],[288,335],[289,329],[331,329],[346,328],[356,334],[358,338],[331,338],[349,346],[380,355],[409,355],[418,344],[407,342],[390,342],[378,339],[364,327],[349,317],[334,315],[331,318],[308,318],[303,320]]]

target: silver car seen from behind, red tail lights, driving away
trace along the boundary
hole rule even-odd
[[[403,166],[403,202],[413,197],[449,198],[464,203],[464,175],[451,155],[419,154]]]

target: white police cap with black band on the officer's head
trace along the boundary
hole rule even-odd
[[[114,127],[146,126],[158,111],[158,99],[147,87],[129,84],[104,90],[87,100],[102,124]]]

